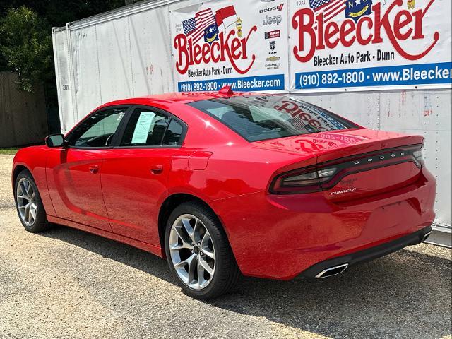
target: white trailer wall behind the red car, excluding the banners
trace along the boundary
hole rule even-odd
[[[200,2],[143,1],[54,28],[61,131],[69,131],[105,102],[177,91],[170,12],[184,4]],[[293,6],[292,2],[288,1],[289,7]],[[448,20],[450,25],[450,16]],[[291,44],[289,49],[292,49]],[[287,90],[282,92],[287,93]],[[371,129],[417,133],[425,137],[425,162],[438,182],[435,232],[431,241],[450,246],[450,86],[307,92],[297,91],[294,95]]]

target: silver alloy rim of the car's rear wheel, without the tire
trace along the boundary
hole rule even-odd
[[[169,253],[180,280],[194,290],[206,288],[215,273],[215,248],[206,225],[194,215],[177,218],[169,232]]]

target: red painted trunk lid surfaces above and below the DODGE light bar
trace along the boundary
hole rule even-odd
[[[417,180],[421,166],[415,152],[420,150],[423,141],[422,136],[352,129],[278,138],[254,145],[314,156],[314,171],[334,168],[333,177],[319,185],[328,200],[345,201],[381,194]],[[287,169],[294,169],[293,164],[278,174]]]

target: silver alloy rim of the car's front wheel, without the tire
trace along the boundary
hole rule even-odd
[[[36,193],[27,178],[21,178],[16,186],[16,202],[20,219],[28,227],[35,224],[36,220]]]

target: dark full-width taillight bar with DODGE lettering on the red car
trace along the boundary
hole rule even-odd
[[[270,193],[299,194],[323,191],[331,189],[349,174],[396,165],[400,162],[414,162],[421,168],[422,147],[423,145],[409,145],[323,162],[316,167],[295,169],[275,177],[270,185]]]

